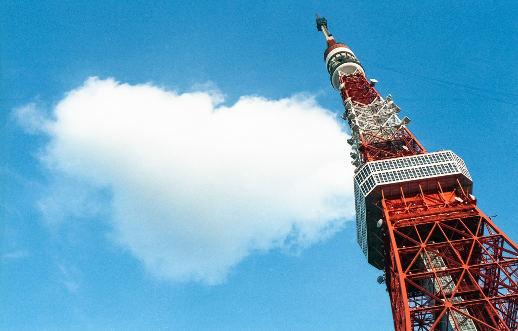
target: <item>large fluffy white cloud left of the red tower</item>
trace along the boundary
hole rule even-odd
[[[42,160],[109,187],[114,237],[162,279],[219,283],[253,250],[306,247],[353,217],[334,114],[300,96],[221,101],[91,78],[40,125]]]

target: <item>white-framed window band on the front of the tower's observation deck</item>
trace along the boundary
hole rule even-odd
[[[452,173],[463,173],[471,179],[466,164],[461,158],[451,151],[441,151],[367,162],[356,173],[354,181],[366,197],[378,184]]]

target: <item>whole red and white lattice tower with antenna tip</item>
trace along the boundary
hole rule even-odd
[[[327,21],[316,27],[351,128],[358,244],[385,273],[395,330],[515,331],[518,246],[477,207],[464,161],[427,152]]]

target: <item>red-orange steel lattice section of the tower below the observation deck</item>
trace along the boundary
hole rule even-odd
[[[515,331],[518,246],[462,187],[382,199],[394,326]]]

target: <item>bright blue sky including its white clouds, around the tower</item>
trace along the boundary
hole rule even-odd
[[[518,240],[514,2],[0,6],[3,330],[393,329],[316,13]]]

